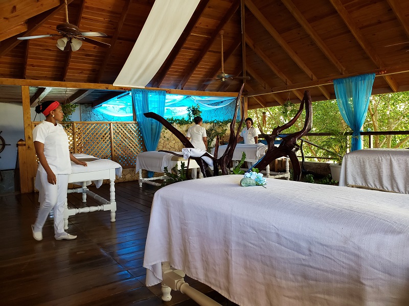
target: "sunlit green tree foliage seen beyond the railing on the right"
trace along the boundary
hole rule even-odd
[[[288,105],[287,105],[288,106]],[[252,117],[255,126],[262,124],[262,113],[266,112],[266,125],[262,126],[264,133],[271,133],[277,125],[288,122],[298,111],[299,104],[294,104],[291,110],[284,106],[270,107],[257,110],[249,110],[248,115]],[[311,133],[337,133],[351,132],[339,113],[336,100],[326,100],[312,103],[313,123]],[[292,125],[283,133],[289,134],[300,131],[304,124],[305,112],[303,111],[296,124]],[[409,92],[397,92],[393,94],[380,94],[371,97],[370,106],[363,131],[409,131]],[[327,139],[329,138],[329,139]],[[327,149],[339,147],[339,137],[305,136],[316,145]],[[332,142],[331,142],[332,141]],[[368,148],[368,137],[364,137],[364,147]],[[347,138],[347,143],[351,137]],[[409,135],[393,135],[374,137],[374,147],[403,148],[409,146]],[[345,147],[345,146],[344,146]],[[313,157],[325,157],[330,154],[304,142],[304,154]],[[325,162],[323,159],[314,159]]]

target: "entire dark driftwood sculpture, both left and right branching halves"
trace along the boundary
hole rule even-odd
[[[218,151],[218,147],[219,147],[219,138],[216,138],[216,145],[215,145],[215,152],[214,152],[214,156],[211,156],[208,152],[206,152],[205,154],[202,155],[202,157],[208,157],[210,159],[213,160],[213,175],[216,176],[219,174],[218,168],[220,167],[221,173],[222,175],[225,174],[229,174],[229,168],[230,168],[230,163],[232,162],[232,158],[233,158],[233,152],[234,149],[236,148],[237,145],[237,141],[239,138],[239,134],[241,132],[241,126],[243,124],[243,113],[244,113],[244,108],[242,107],[241,109],[241,120],[240,120],[240,124],[238,126],[238,130],[237,132],[234,131],[234,127],[236,124],[236,118],[237,118],[237,113],[238,113],[238,108],[239,108],[239,104],[240,104],[240,97],[241,97],[241,93],[243,90],[244,84],[243,86],[241,86],[240,92],[237,96],[236,99],[236,109],[234,112],[234,117],[233,120],[230,124],[230,138],[229,138],[229,143],[227,145],[226,150],[224,151],[224,154],[220,157],[217,158],[217,151]],[[278,147],[274,146],[274,141],[276,140],[276,138],[279,136],[279,134],[284,131],[285,129],[288,129],[288,127],[290,127],[292,124],[294,124],[297,119],[300,117],[303,109],[305,106],[305,123],[304,123],[304,127],[301,131],[296,132],[296,133],[292,133],[289,134],[287,136],[285,136],[281,142],[281,144]],[[172,124],[170,124],[165,118],[161,117],[158,114],[155,113],[145,113],[144,114],[145,117],[147,118],[152,118],[155,119],[159,122],[161,122],[171,133],[173,133],[173,135],[175,135],[177,137],[177,139],[179,139],[181,141],[181,143],[187,147],[187,148],[193,148],[193,145],[191,144],[191,142],[186,138],[185,135],[183,135],[181,132],[179,132]],[[296,148],[298,147],[297,145],[297,140],[299,140],[302,136],[304,136],[305,134],[307,134],[312,127],[312,106],[311,106],[311,97],[310,97],[310,93],[308,90],[306,90],[304,92],[304,97],[303,100],[300,104],[300,108],[296,114],[296,116],[294,116],[294,118],[292,118],[288,123],[282,125],[282,126],[277,126],[271,133],[271,135],[265,135],[263,134],[263,131],[261,130],[263,136],[265,137],[266,141],[267,141],[267,151],[265,153],[265,155],[263,156],[262,159],[260,159],[256,164],[254,164],[252,166],[252,168],[259,168],[260,170],[264,170],[266,168],[266,166],[271,163],[272,161],[280,158],[280,157],[289,157],[292,163],[292,167],[294,170],[294,180],[299,181],[301,178],[301,166],[300,166],[300,162],[298,161],[298,158],[296,156]],[[173,155],[176,156],[181,156],[179,154],[175,154],[172,151],[166,151],[166,150],[162,150],[163,152],[168,152],[171,153]],[[200,167],[201,172],[203,173],[204,177],[207,176],[211,176],[211,172],[209,171],[209,165],[203,160],[201,159],[201,157],[191,157],[192,159],[194,159],[197,164]],[[248,169],[247,171],[250,171],[251,169]]]

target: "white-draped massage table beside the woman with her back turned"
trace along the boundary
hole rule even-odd
[[[182,152],[175,153],[183,154]],[[137,156],[136,164],[136,170],[139,171],[139,187],[142,187],[143,183],[154,186],[161,186],[162,184],[153,181],[167,179],[166,175],[156,177],[142,177],[143,169],[158,173],[164,173],[165,167],[167,167],[168,171],[170,172],[175,165],[177,165],[177,167],[180,169],[182,162],[185,163],[185,167],[188,167],[188,169],[192,169],[192,171],[196,171],[196,169],[199,168],[199,165],[193,159],[189,160],[188,165],[188,160],[185,160],[183,157],[178,157],[167,152],[159,151],[141,152]]]

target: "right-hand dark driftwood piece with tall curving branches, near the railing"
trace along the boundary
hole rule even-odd
[[[279,134],[284,131],[285,129],[288,129],[292,124],[294,124],[297,119],[300,117],[303,109],[305,106],[305,122],[304,122],[304,127],[301,131],[289,134],[285,136],[280,145],[278,147],[274,146],[274,141],[276,138],[279,136]],[[259,127],[260,128],[260,127]],[[289,157],[291,164],[292,164],[292,169],[294,171],[294,181],[300,181],[301,179],[301,166],[300,162],[297,158],[296,155],[296,148],[299,147],[297,145],[297,141],[303,137],[305,134],[307,134],[312,128],[312,104],[311,104],[311,96],[309,90],[304,91],[304,97],[303,100],[301,101],[300,108],[289,122],[282,126],[277,126],[271,133],[271,135],[265,135],[263,134],[262,129],[260,131],[262,132],[262,135],[264,136],[265,140],[267,141],[267,151],[265,155],[257,161],[253,167],[254,168],[259,168],[260,170],[265,169],[265,167],[271,163],[272,161],[280,158],[280,157]]]

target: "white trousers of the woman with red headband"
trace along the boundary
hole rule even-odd
[[[69,174],[56,174],[57,184],[47,181],[47,173],[37,172],[40,175],[41,189],[39,193],[40,210],[38,211],[35,226],[41,228],[46,223],[51,210],[54,213],[54,233],[64,233],[64,206],[67,198]]]

